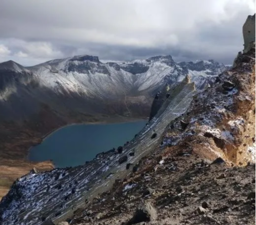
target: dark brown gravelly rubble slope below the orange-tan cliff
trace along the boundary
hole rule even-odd
[[[166,151],[162,164],[148,157],[137,173],[68,221],[134,225],[138,210],[150,204],[153,210],[140,214],[142,225],[255,225],[255,175],[255,165],[230,168]]]

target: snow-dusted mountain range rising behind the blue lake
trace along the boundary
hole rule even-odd
[[[227,66],[212,60],[176,63],[171,56],[122,63],[75,56],[33,67],[0,64],[0,118],[27,118],[43,104],[55,111],[90,115],[148,114],[153,96],[187,75],[198,88]]]

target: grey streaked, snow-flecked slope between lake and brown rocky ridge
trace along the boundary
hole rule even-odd
[[[84,166],[30,174],[17,181],[10,191],[11,197],[4,198],[1,204],[2,225],[14,221],[17,225],[39,225],[46,219],[66,217],[98,193],[110,189],[115,179],[123,179],[132,170],[132,164],[137,164],[159,144],[169,121],[186,110],[195,91],[194,84],[185,80],[174,91],[175,95],[168,99],[172,104],[167,106],[165,113],[159,114],[124,148],[99,155]],[[131,163],[129,168],[127,163]],[[22,202],[25,204],[20,204]],[[37,210],[31,211],[32,205]],[[4,209],[5,206],[9,209]],[[19,220],[20,217],[23,220]]]

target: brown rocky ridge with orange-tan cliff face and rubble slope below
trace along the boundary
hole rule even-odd
[[[194,96],[136,172],[68,222],[255,225],[255,52]]]

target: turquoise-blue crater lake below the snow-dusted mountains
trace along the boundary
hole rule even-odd
[[[30,161],[52,160],[55,167],[83,165],[97,154],[123,146],[139,133],[147,121],[106,125],[72,125],[50,134],[31,148]]]

